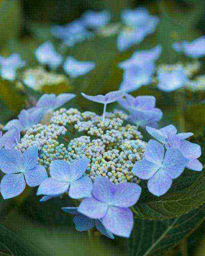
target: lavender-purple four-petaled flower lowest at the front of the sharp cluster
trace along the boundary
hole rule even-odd
[[[94,181],[92,197],[80,203],[78,212],[101,219],[102,225],[113,234],[129,237],[133,213],[128,207],[137,202],[140,194],[141,187],[135,183],[114,185],[109,179],[99,176]]]

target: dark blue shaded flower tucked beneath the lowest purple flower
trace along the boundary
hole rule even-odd
[[[74,214],[75,217],[73,219],[73,222],[75,223],[76,230],[82,232],[87,231],[91,228],[96,226],[97,230],[100,231],[101,234],[114,239],[113,234],[107,230],[103,224],[101,219],[91,219],[87,217],[86,215],[83,215],[78,212],[78,207],[62,207],[61,208],[64,212],[68,212],[70,214]]]

